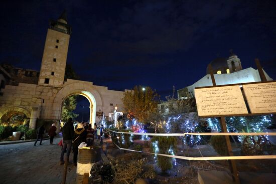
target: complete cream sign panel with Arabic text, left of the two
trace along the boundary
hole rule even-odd
[[[248,114],[238,85],[195,89],[195,97],[199,116]]]

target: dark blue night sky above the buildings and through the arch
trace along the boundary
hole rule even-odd
[[[276,1],[5,1],[0,63],[40,70],[49,19],[65,9],[73,31],[67,63],[94,85],[150,86],[164,99],[230,49],[244,69],[259,58],[276,79]],[[88,107],[79,101],[78,109]]]

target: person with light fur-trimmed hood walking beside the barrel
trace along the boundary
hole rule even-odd
[[[79,123],[77,126],[77,129],[75,129],[75,137],[73,140],[73,151],[74,151],[73,162],[75,166],[77,166],[77,158],[78,158],[78,152],[79,152],[78,146],[80,145],[81,142],[86,142],[86,135],[87,135],[87,132],[83,124]]]

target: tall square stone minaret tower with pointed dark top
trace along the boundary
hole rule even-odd
[[[64,11],[58,21],[50,20],[42,57],[39,85],[63,85],[69,39],[72,27],[67,25]]]

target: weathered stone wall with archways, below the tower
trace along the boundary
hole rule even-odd
[[[7,109],[22,107],[29,114],[30,126],[35,128],[36,119],[60,120],[62,102],[72,94],[83,95],[91,103],[91,118],[93,122],[100,121],[95,116],[96,111],[102,111],[108,116],[117,105],[122,110],[122,91],[108,90],[104,86],[95,86],[92,82],[68,79],[62,87],[41,86],[19,83],[18,86],[6,85],[0,96],[0,115]],[[110,107],[110,104],[113,104]],[[1,118],[1,117],[0,117]]]

